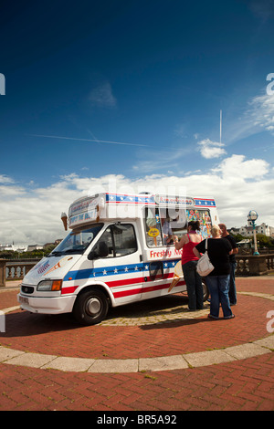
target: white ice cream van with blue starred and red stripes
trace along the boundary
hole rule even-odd
[[[184,292],[172,234],[199,220],[206,237],[219,223],[214,198],[147,193],[82,197],[61,217],[69,234],[26,274],[17,299],[21,309],[72,313],[84,325],[110,307]]]

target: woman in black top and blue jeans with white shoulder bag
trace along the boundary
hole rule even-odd
[[[211,319],[219,318],[220,304],[224,313],[224,319],[234,318],[230,309],[228,290],[230,265],[229,255],[232,253],[232,246],[225,238],[221,237],[221,230],[218,225],[213,225],[211,229],[212,238],[207,239],[207,254],[214,270],[206,277],[206,285],[210,292],[210,314]],[[195,256],[201,257],[205,253],[205,240],[194,248]]]

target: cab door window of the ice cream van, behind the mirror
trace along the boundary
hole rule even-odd
[[[100,237],[96,249],[100,243],[105,243],[109,249],[109,255],[105,257],[116,257],[131,255],[137,251],[137,241],[133,225],[110,225]]]

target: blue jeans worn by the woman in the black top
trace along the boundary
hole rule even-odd
[[[220,304],[224,313],[224,318],[228,319],[232,316],[230,309],[228,290],[229,290],[229,274],[225,276],[207,276],[206,285],[210,292],[210,315],[218,319]]]

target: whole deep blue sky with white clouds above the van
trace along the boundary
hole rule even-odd
[[[0,243],[63,235],[70,198],[114,182],[185,186],[228,226],[250,209],[274,226],[273,1],[0,9]]]

